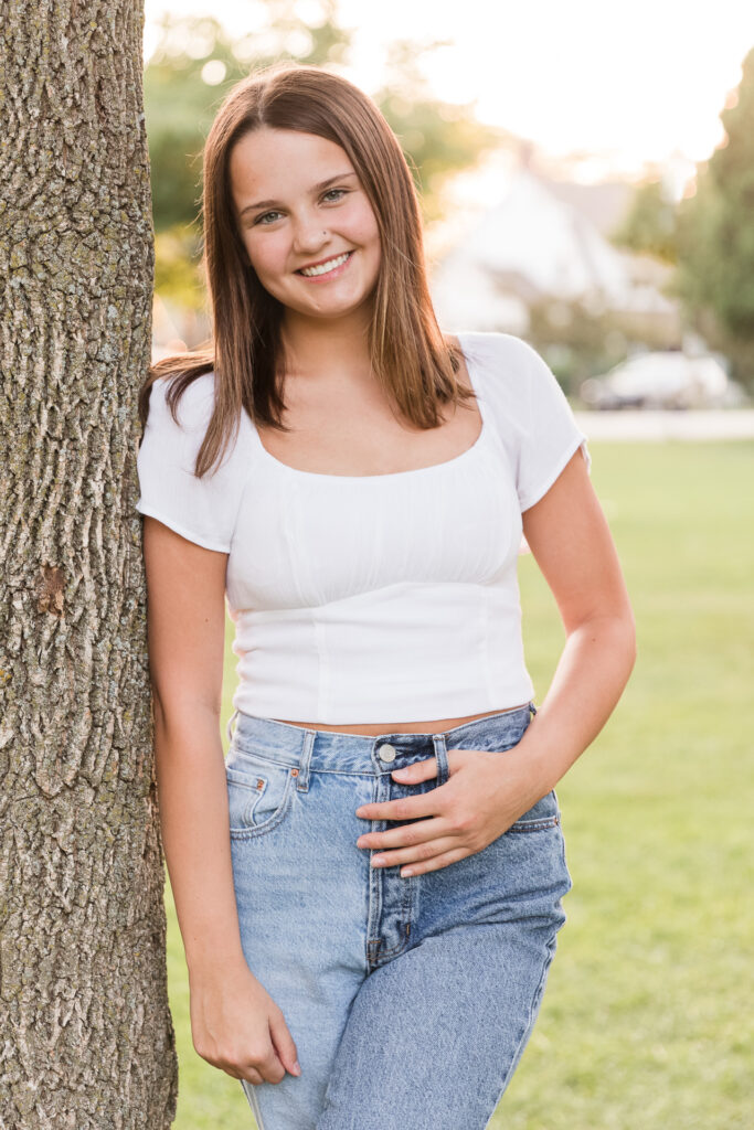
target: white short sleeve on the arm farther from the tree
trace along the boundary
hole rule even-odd
[[[528,342],[514,340],[521,366],[511,374],[519,425],[515,489],[523,512],[539,502],[579,449],[591,473],[591,455],[555,374]]]

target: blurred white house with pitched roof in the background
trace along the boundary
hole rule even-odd
[[[497,203],[433,271],[442,323],[525,334],[529,308],[560,299],[619,315],[638,336],[679,344],[677,306],[660,290],[670,268],[618,250],[603,234],[621,218],[631,185],[566,184],[526,166],[503,180]]]

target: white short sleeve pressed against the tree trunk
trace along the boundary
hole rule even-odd
[[[151,385],[149,415],[137,454],[140,495],[136,508],[206,549],[231,551],[239,504],[235,460],[226,457],[201,479],[193,473],[214,407],[214,374],[190,384],[176,407],[166,401],[168,382]]]

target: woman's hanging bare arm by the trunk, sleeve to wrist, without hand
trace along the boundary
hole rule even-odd
[[[227,554],[145,518],[163,846],[189,972],[243,959],[220,740]]]

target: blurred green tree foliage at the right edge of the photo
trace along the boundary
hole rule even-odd
[[[754,49],[720,114],[725,138],[679,206],[675,293],[754,388]]]

